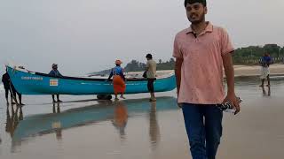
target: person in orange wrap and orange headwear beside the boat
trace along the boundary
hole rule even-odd
[[[113,77],[113,85],[114,85],[114,100],[118,100],[117,95],[121,94],[121,98],[125,99],[123,96],[125,92],[125,77],[123,74],[123,69],[121,67],[122,61],[115,60],[114,64],[116,65],[109,74],[107,80],[110,80]]]

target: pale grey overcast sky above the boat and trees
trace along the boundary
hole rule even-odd
[[[124,64],[169,60],[178,31],[189,27],[183,0],[0,0],[0,64],[82,75]],[[206,17],[225,27],[236,48],[284,45],[283,0],[208,0]],[[124,66],[124,65],[122,65]]]

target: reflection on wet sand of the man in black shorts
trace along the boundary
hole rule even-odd
[[[160,141],[160,128],[156,114],[156,102],[151,102],[149,111],[149,136],[152,149],[155,149]]]

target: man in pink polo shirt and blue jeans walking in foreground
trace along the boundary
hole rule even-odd
[[[193,159],[215,159],[223,117],[217,104],[231,102],[235,112],[240,111],[234,93],[234,49],[225,29],[205,21],[206,0],[185,0],[185,10],[191,26],[176,35],[173,51],[177,102],[182,106]]]

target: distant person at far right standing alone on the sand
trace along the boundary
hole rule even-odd
[[[270,78],[269,78],[269,65],[272,64],[272,57],[266,52],[264,56],[261,57],[259,64],[261,64],[261,85],[259,87],[264,87],[264,80],[267,79],[267,87],[270,87]]]

